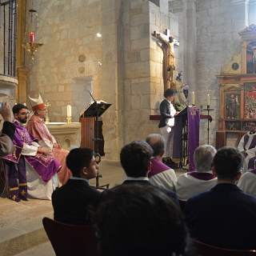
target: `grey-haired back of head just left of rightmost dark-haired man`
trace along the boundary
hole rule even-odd
[[[217,150],[210,145],[198,146],[194,151],[194,166],[200,173],[211,170]]]

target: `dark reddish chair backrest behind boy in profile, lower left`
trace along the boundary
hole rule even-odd
[[[69,225],[47,217],[42,219],[42,224],[57,256],[96,255],[93,226]]]

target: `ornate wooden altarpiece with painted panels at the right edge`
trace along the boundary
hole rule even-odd
[[[216,148],[226,146],[227,133],[238,134],[238,142],[256,120],[256,26],[238,33],[242,50],[234,54],[217,75],[219,79],[219,118]]]

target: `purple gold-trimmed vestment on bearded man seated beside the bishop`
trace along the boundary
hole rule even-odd
[[[8,154],[4,158],[10,162],[18,163],[24,142],[32,145],[33,141],[38,142],[38,140],[24,126],[19,126],[17,122],[14,122],[14,125],[16,126],[16,131],[13,142],[16,151],[13,154]],[[44,182],[49,182],[54,174],[62,167],[52,155],[37,154],[35,156],[25,155],[24,157],[26,162]]]

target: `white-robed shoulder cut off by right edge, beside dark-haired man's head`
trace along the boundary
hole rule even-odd
[[[238,186],[243,192],[256,198],[256,169],[242,174],[242,177],[239,179]]]

